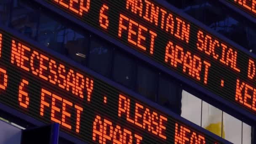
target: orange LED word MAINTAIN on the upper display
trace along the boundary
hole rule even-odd
[[[150,0],[126,0],[126,9],[146,21],[160,27],[165,32],[189,43],[190,24],[168,13]]]

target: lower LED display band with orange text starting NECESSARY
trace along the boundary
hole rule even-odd
[[[89,144],[225,142],[1,29],[0,103]]]

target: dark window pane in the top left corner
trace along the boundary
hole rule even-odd
[[[0,0],[0,24],[8,25],[11,0]]]

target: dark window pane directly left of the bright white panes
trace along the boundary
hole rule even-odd
[[[161,75],[158,89],[158,103],[180,114],[180,97],[181,91],[179,84],[175,83],[171,78]]]

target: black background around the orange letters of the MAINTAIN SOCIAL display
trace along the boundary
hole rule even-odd
[[[165,67],[168,67],[174,72],[177,72],[180,75],[187,77],[189,80],[194,81],[195,83],[213,92],[214,94],[226,99],[227,101],[230,101],[232,104],[235,104],[240,108],[251,112],[253,115],[256,114],[256,111],[253,111],[252,109],[245,107],[243,104],[240,104],[239,102],[235,101],[235,90],[236,90],[237,79],[240,80],[240,83],[241,81],[243,81],[253,86],[254,88],[256,88],[255,78],[253,80],[249,80],[247,77],[248,61],[250,56],[245,52],[240,51],[239,49],[233,47],[232,45],[229,45],[223,40],[215,37],[214,35],[209,34],[207,31],[205,31],[204,29],[201,29],[196,24],[193,24],[191,21],[186,21],[178,14],[173,13],[172,11],[169,11],[169,10],[167,11],[166,8],[157,4],[156,2],[154,2],[154,0],[150,0],[150,2],[154,2],[155,5],[159,6],[160,8],[163,8],[165,11],[167,11],[167,13],[171,13],[173,15],[173,19],[178,17],[179,19],[182,19],[183,21],[186,21],[186,23],[190,24],[189,43],[185,43],[184,41],[174,37],[174,35],[171,35],[170,33],[167,33],[160,28],[161,14],[159,14],[158,27],[156,27],[154,24],[139,17],[139,15],[136,15],[132,13],[130,10],[127,10],[126,0],[90,0],[90,10],[88,11],[88,13],[84,13],[83,17],[70,11],[67,8],[62,7],[61,5],[59,5],[59,3],[54,2],[54,0],[45,0],[45,1],[56,6],[56,8],[60,8],[61,10],[69,13],[70,15],[75,16],[77,19],[83,21],[84,23],[89,24],[90,26],[101,30],[101,32],[104,32],[105,34],[115,38],[116,40],[119,40],[120,42],[124,43],[125,45],[128,45],[134,50],[139,51],[140,53],[143,53],[144,55],[148,56],[150,59],[157,61],[158,63],[162,64]],[[69,0],[64,0],[64,1],[65,3],[69,2]],[[142,1],[144,3],[144,0]],[[106,11],[107,16],[109,18],[109,27],[107,30],[100,27],[100,24],[99,24],[99,11],[103,4],[109,7],[109,10]],[[145,3],[143,6],[144,6],[143,8],[145,8]],[[147,51],[142,51],[136,46],[134,46],[133,44],[129,43],[127,40],[127,35],[128,35],[127,31],[126,32],[123,31],[121,38],[118,37],[120,13],[125,15],[129,19],[136,21],[137,23],[144,25],[144,27],[147,27],[147,29],[153,30],[154,32],[157,33],[157,37],[155,38],[155,48],[154,48],[153,55],[149,53],[149,44],[150,44],[149,34],[147,34],[147,37],[146,37],[148,41],[147,43],[145,43],[145,45],[147,45],[146,46]],[[144,13],[142,15],[144,15]],[[222,64],[220,61],[216,61],[212,56],[208,56],[207,54],[197,49],[197,32],[199,30],[202,31],[205,35],[206,34],[210,35],[212,39],[218,40],[220,44],[224,43],[225,45],[227,45],[227,48],[232,48],[234,51],[237,51],[237,68],[240,69],[240,72],[236,72],[234,69]],[[207,85],[203,83],[203,76],[205,75],[205,72],[204,72],[205,69],[203,66],[200,74],[201,81],[197,81],[195,80],[195,78],[190,77],[188,73],[184,73],[182,71],[182,66],[178,66],[177,68],[174,68],[171,66],[170,62],[168,63],[165,62],[165,48],[168,41],[173,42],[174,45],[181,46],[184,49],[184,52],[189,51],[192,53],[192,55],[195,54],[199,56],[201,58],[201,61],[205,60],[211,64],[211,67],[209,68],[209,72],[208,72]],[[222,51],[221,48],[219,49],[215,48],[215,52],[219,53],[219,56],[221,56],[221,51]],[[250,59],[252,59],[253,61],[256,61],[253,58],[250,58]],[[224,80],[224,87],[221,87],[221,80]],[[248,99],[248,103],[252,104],[252,100]]]

